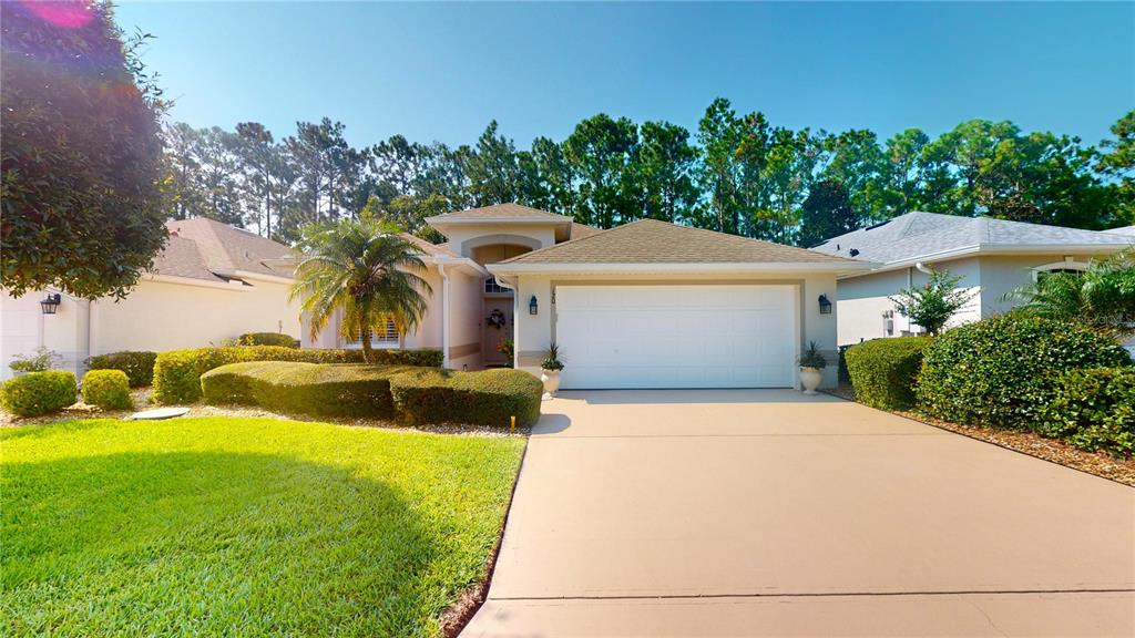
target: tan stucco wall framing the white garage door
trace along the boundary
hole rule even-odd
[[[835,360],[835,326],[836,310],[833,308],[831,314],[819,313],[818,297],[826,294],[829,299],[835,295],[834,275],[805,275],[800,272],[770,274],[767,276],[754,277],[753,275],[735,276],[659,276],[659,275],[609,275],[609,276],[562,276],[562,275],[522,275],[519,279],[516,300],[519,308],[515,311],[515,342],[518,368],[539,375],[540,353],[552,342],[554,333],[555,309],[552,304],[553,284],[556,286],[571,284],[597,284],[597,283],[627,283],[642,284],[655,282],[658,284],[793,284],[799,287],[798,301],[802,309],[800,349],[807,346],[809,341],[815,341],[822,351],[827,355],[829,367],[824,370],[824,387],[832,387],[836,381]],[[539,305],[539,314],[528,313],[528,303],[532,295],[536,295]]]

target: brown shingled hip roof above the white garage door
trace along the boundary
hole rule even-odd
[[[642,219],[502,263],[852,263],[840,257]]]

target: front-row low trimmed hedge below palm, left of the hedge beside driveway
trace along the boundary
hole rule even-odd
[[[259,405],[317,417],[394,415],[390,377],[410,366],[253,361],[230,363],[201,376],[207,403]]]

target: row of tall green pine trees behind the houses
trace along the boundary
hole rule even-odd
[[[975,119],[933,140],[909,128],[880,141],[773,126],[725,99],[695,132],[600,114],[521,150],[496,121],[456,148],[402,135],[353,148],[328,118],[284,138],[258,123],[173,124],[166,201],[173,217],[284,242],[363,210],[437,240],[423,218],[511,201],[602,228],[654,218],[806,246],[911,210],[1100,229],[1135,224],[1135,111],[1111,131],[1087,145]]]

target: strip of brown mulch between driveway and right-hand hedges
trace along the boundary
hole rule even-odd
[[[839,388],[832,389],[830,393],[848,401],[855,401],[855,391],[846,384],[841,384]],[[969,438],[976,438],[985,443],[992,443],[1006,450],[1028,454],[1029,456],[1135,487],[1135,459],[1121,459],[1105,452],[1087,452],[1073,447],[1062,440],[1045,438],[1027,430],[962,426],[917,412],[896,411],[893,413],[920,423],[926,423],[927,426],[968,436]]]

